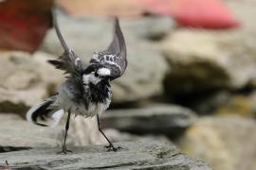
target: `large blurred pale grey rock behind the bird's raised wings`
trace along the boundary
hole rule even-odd
[[[112,20],[59,14],[58,21],[66,42],[84,62],[88,62],[94,51],[105,49],[112,41]],[[122,27],[122,22],[120,25]],[[137,39],[129,31],[124,32],[124,37],[129,65],[125,74],[113,82],[114,103],[137,101],[161,93],[167,72],[165,59],[151,43]],[[41,50],[62,54],[63,49],[53,29],[47,33]]]

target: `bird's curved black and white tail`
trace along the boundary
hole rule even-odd
[[[51,106],[51,98],[27,110],[27,121],[43,127],[55,127],[61,121],[64,110]]]

